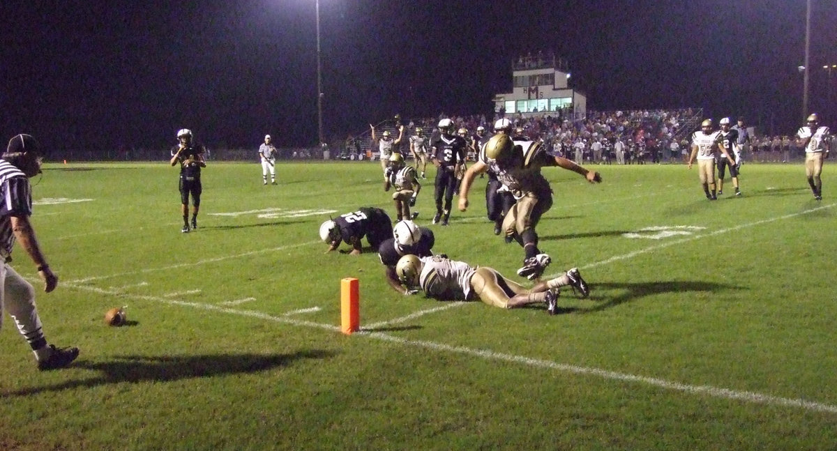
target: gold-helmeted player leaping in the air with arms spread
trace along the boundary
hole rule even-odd
[[[507,243],[516,240],[523,248],[523,266],[517,270],[517,275],[530,280],[539,278],[552,261],[548,254],[538,249],[535,228],[542,214],[552,207],[552,187],[543,177],[541,168],[553,166],[576,172],[590,183],[602,181],[598,172],[588,171],[562,156],[550,156],[540,142],[512,141],[505,133],[496,134],[485,144],[479,161],[465,172],[462,180],[459,208],[463,212],[468,208],[468,192],[474,177],[489,168],[511,191],[515,204],[503,218],[502,230]]]

